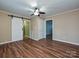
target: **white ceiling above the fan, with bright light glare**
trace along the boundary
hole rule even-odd
[[[27,17],[30,17],[35,7],[45,11],[44,16],[51,16],[78,9],[79,0],[0,0],[0,10]]]

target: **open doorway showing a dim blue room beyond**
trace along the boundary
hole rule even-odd
[[[52,40],[52,20],[46,21],[46,39]]]

